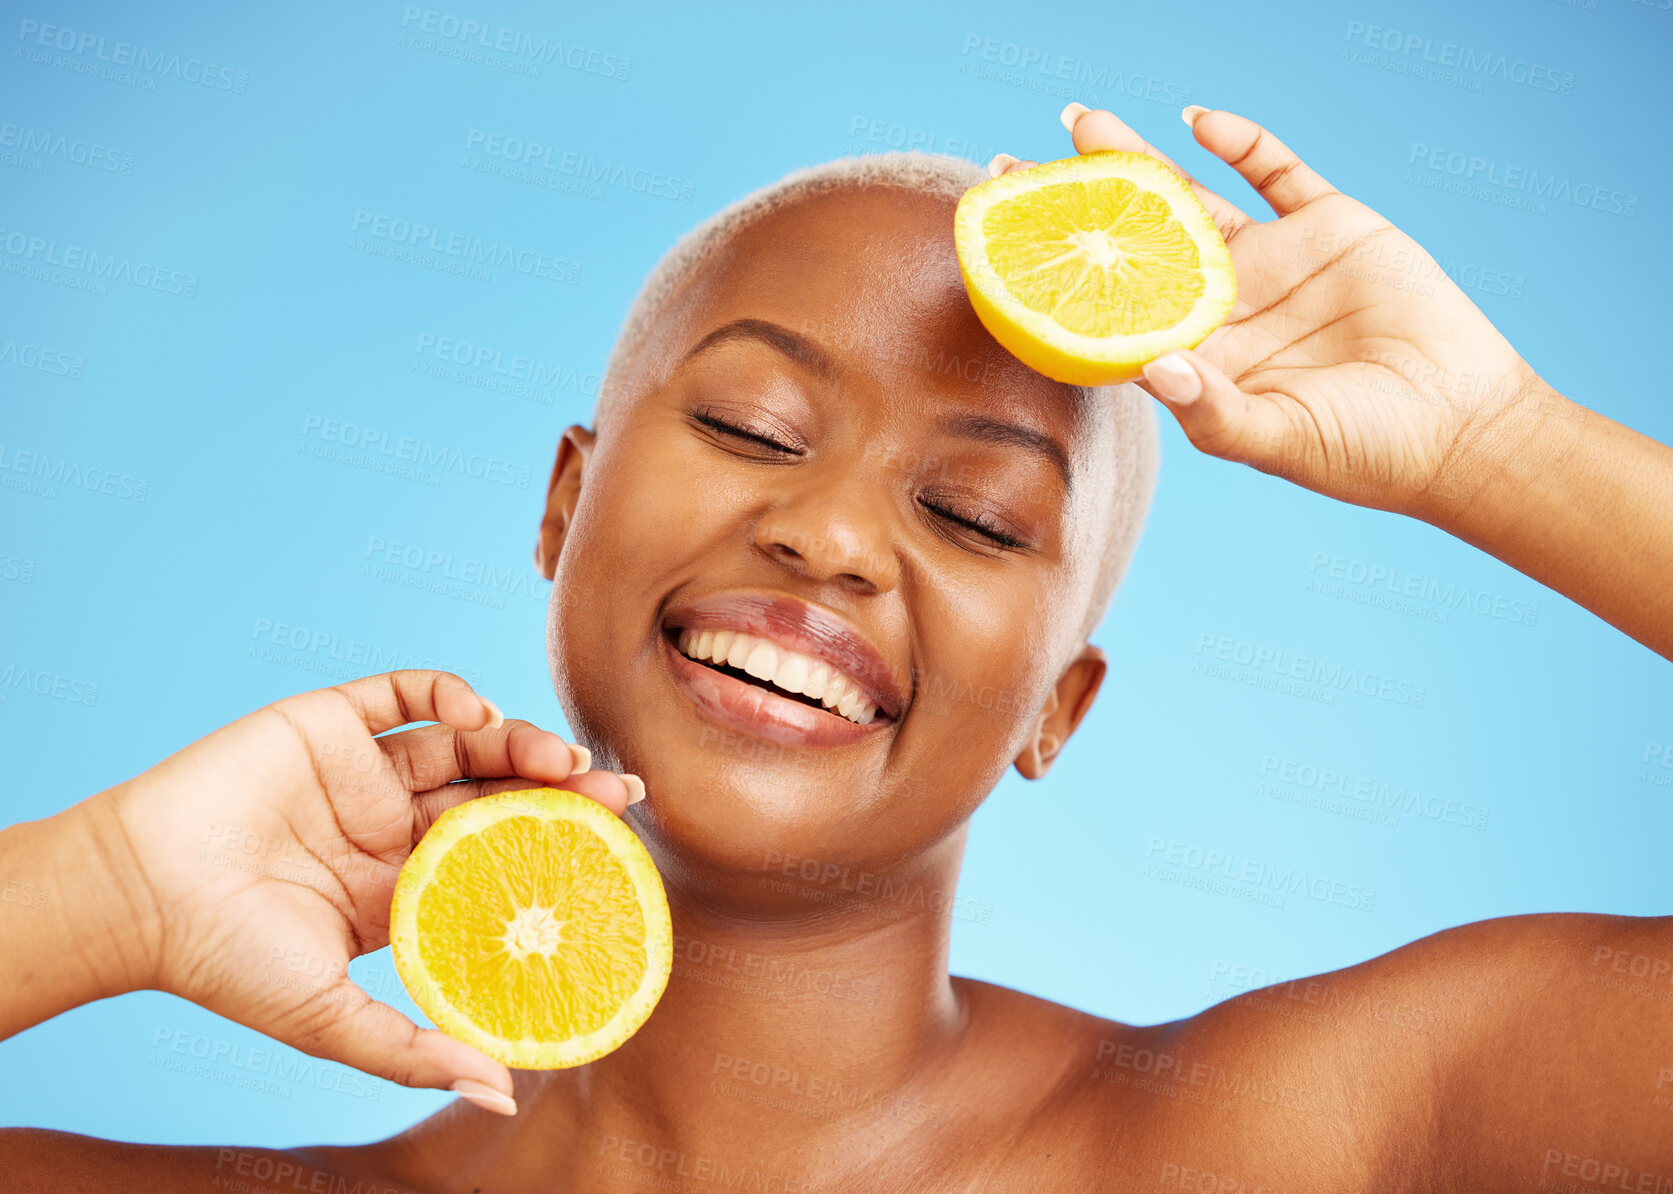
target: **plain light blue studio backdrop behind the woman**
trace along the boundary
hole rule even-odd
[[[0,122],[99,142],[129,166],[17,145],[0,166],[7,819],[54,813],[249,709],[341,679],[313,671],[333,666],[330,647],[274,647],[296,627],[340,651],[373,644],[388,666],[450,666],[507,712],[559,727],[545,585],[527,562],[557,436],[587,421],[646,271],[703,216],[796,166],[903,145],[1062,157],[1069,99],[1114,109],[1250,211],[1258,201],[1205,161],[1176,112],[1201,102],[1260,119],[1462,278],[1489,279],[1472,296],[1553,385],[1673,435],[1651,348],[1673,269],[1670,157],[1653,119],[1673,110],[1673,12],[1653,5],[433,10],[582,50],[579,69],[547,64],[539,77],[438,52],[467,47],[425,35],[402,3],[346,8],[5,5]],[[216,79],[243,90],[80,74],[99,67],[95,50],[43,48],[20,37],[28,20],[224,65]],[[1548,67],[1571,94],[1499,74],[1415,77],[1447,42]],[[505,162],[470,144],[473,129],[549,144],[554,162],[574,152],[668,176],[674,197],[483,172]],[[1630,196],[1635,214],[1449,194],[1425,186],[1452,176],[1414,166],[1417,145]],[[356,229],[356,212],[534,249],[579,264],[579,281],[375,256],[363,246],[390,241]],[[196,294],[122,281],[100,294],[17,273],[28,268],[17,234],[177,271]],[[535,358],[555,381],[532,395],[485,388],[492,368],[438,360],[443,338]],[[62,356],[30,368],[25,346]],[[427,371],[443,365],[452,373]],[[346,452],[325,443],[325,420],[492,458],[510,483],[316,455]],[[1094,637],[1109,682],[1051,779],[1012,774],[977,816],[960,895],[987,923],[955,921],[957,973],[1156,1022],[1484,916],[1668,910],[1663,661],[1439,530],[1198,457],[1171,421],[1164,436],[1148,533]],[[146,482],[144,500],[74,483],[32,492],[42,483],[15,472],[18,452],[109,470],[127,478],[119,492]],[[378,540],[517,580],[433,592],[412,587],[433,575],[422,569],[365,575]],[[1308,589],[1332,557],[1353,575],[1362,565],[1397,585],[1487,594],[1486,609],[1502,597],[1516,619],[1444,600],[1397,612],[1355,600],[1382,590],[1352,580]],[[1213,654],[1203,635],[1389,674],[1422,686],[1424,702],[1347,691],[1318,704],[1230,682],[1193,671]],[[84,699],[18,686],[25,671]],[[1270,761],[1489,816],[1471,828],[1409,809],[1385,824],[1350,816],[1363,808],[1352,799],[1273,798]],[[1154,841],[1302,868],[1374,903],[1292,895],[1275,908],[1193,890],[1144,873]],[[386,953],[356,973],[412,1008]],[[179,1042],[228,1060],[211,1077],[171,1072]],[[358,1142],[448,1099],[341,1067],[283,1094],[234,1085],[263,1067],[248,1050],[266,1043],[166,995],[84,1007],[0,1043],[0,1070],[50,1075],[0,1085],[0,1122],[157,1142]]]

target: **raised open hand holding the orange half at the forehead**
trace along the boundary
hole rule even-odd
[[[1179,171],[1111,112],[1071,104],[1076,151],[1168,162],[1231,251],[1238,301],[1196,350],[1146,366],[1144,385],[1200,450],[1355,505],[1434,520],[1534,405],[1537,375],[1409,236],[1231,112],[1190,107],[1198,144],[1278,214],[1258,221]],[[992,174],[1027,169],[1000,156]]]

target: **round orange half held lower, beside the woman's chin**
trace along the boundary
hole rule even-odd
[[[390,947],[435,1027],[524,1070],[617,1049],[674,960],[649,851],[602,804],[555,788],[438,816],[395,883]]]

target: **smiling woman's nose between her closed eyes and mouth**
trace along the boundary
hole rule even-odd
[[[756,518],[755,545],[810,580],[857,594],[890,592],[900,584],[890,502],[867,490],[857,470],[820,473],[800,475]]]

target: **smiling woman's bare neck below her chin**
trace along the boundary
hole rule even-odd
[[[614,1054],[519,1090],[537,1135],[589,1169],[622,1140],[736,1167],[793,1157],[857,1112],[902,1132],[923,1122],[912,1110],[965,1018],[947,973],[964,838],[910,873],[820,881],[791,866],[729,901],[671,890],[674,967],[656,1012]]]

